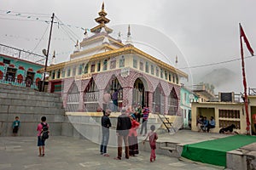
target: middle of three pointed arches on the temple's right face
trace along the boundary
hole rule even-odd
[[[165,95],[163,92],[163,88],[161,88],[160,84],[155,88],[153,94],[153,111],[154,113],[164,114],[165,111]]]

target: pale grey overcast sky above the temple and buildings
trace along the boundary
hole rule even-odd
[[[241,60],[190,69],[184,67],[239,59],[240,22],[256,53],[256,1],[105,0],[104,3],[111,20],[108,26],[118,29],[113,31],[113,37],[121,31],[125,38],[126,26],[131,24],[132,40],[138,42],[136,47],[143,48],[141,45],[146,44],[160,53],[152,53],[155,57],[171,64],[177,55],[177,67],[189,74],[188,84],[201,82],[209,72],[226,68],[231,74],[219,73],[219,78],[213,81],[215,93],[243,91]],[[0,4],[0,43],[37,54],[47,48],[49,24],[44,20],[49,21],[55,13],[55,21],[66,24],[55,24],[53,30],[50,53],[56,50],[58,62],[68,59],[76,39],[82,40],[84,31],[81,27],[97,25],[94,19],[102,7],[99,0],[0,0]],[[147,47],[144,47],[146,51]],[[244,51],[248,56],[245,46]],[[256,88],[255,64],[256,57],[246,59],[248,88]]]

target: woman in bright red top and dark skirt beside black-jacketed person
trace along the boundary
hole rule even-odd
[[[131,129],[128,135],[129,155],[135,156],[135,154],[138,154],[137,128],[140,126],[140,123],[137,122],[134,114],[132,114],[130,117],[131,117]]]

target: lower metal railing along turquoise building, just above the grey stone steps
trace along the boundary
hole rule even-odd
[[[38,82],[32,82],[31,80],[23,80],[13,77],[0,76],[0,83],[12,84],[15,86],[38,89]]]

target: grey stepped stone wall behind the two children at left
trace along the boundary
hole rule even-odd
[[[20,116],[19,136],[35,136],[41,116],[47,117],[51,135],[61,135],[62,126],[69,124],[60,94],[0,84],[0,136],[12,135],[15,116]]]

